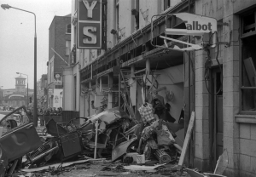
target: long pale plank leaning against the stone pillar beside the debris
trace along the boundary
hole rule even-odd
[[[192,129],[194,128],[195,123],[195,111],[191,112],[191,117],[189,121],[189,127],[187,129],[186,137],[183,144],[183,150],[181,153],[181,156],[179,158],[178,164],[177,164],[177,170],[181,170],[183,168],[183,163],[185,159],[185,155],[189,146],[189,140],[191,139]]]

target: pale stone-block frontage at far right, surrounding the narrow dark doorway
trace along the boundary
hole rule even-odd
[[[219,49],[210,52],[212,66],[207,85],[207,52],[195,52],[194,166],[203,171],[214,168],[218,156],[227,151],[228,168],[224,174],[256,174],[255,4],[238,0],[195,1],[195,14],[218,20]]]

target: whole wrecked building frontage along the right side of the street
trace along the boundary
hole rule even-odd
[[[62,72],[64,111],[79,111],[79,117],[90,117],[96,113],[94,106],[107,104],[108,108],[120,106],[140,120],[137,110],[145,101],[158,98],[171,106],[175,123],[180,123],[184,111],[184,128],[177,132],[180,146],[191,112],[195,111],[195,128],[185,161],[188,166],[213,171],[225,151],[228,168],[224,174],[256,174],[254,1],[102,2],[102,19],[106,21],[102,26],[102,35],[106,36],[102,49],[77,46],[79,3],[84,5],[83,1],[72,3],[72,62],[63,66]],[[178,18],[154,15],[183,12],[218,20],[218,46],[208,52],[160,48],[166,45],[160,37],[166,36],[166,28],[186,26]],[[211,35],[172,37],[183,42],[211,43]],[[167,45],[185,47],[175,42]],[[210,66],[206,65],[207,59]]]

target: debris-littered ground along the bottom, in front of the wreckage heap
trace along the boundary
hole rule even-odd
[[[116,176],[116,177],[163,177],[163,176],[172,176],[172,177],[190,177],[190,175],[183,171],[183,174],[176,169],[177,164],[168,163],[159,168],[155,168],[154,172],[148,172],[144,170],[127,170],[124,167],[129,166],[130,164],[124,163],[111,163],[110,161],[93,161],[87,163],[75,164],[62,170],[51,169],[44,172],[38,172],[36,176],[58,176],[58,177],[106,177],[106,176]],[[137,164],[137,167],[143,167]],[[147,166],[147,164],[146,164]]]

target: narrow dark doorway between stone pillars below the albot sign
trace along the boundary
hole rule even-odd
[[[223,90],[222,72],[212,69],[211,74],[211,111],[210,138],[212,142],[212,169],[215,168],[218,157],[223,153]]]

